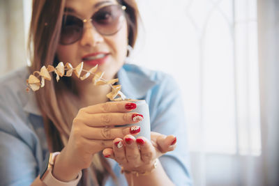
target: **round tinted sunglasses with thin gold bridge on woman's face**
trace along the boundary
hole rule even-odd
[[[84,23],[91,22],[103,36],[117,33],[123,25],[126,6],[110,5],[100,8],[91,19],[81,20],[73,15],[63,15],[60,40],[61,45],[70,45],[82,38]]]

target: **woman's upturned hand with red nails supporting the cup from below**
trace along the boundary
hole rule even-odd
[[[135,139],[128,134],[114,139],[113,148],[105,148],[103,155],[118,162],[126,171],[149,171],[156,158],[174,150],[176,137],[151,132],[151,141],[144,137]]]

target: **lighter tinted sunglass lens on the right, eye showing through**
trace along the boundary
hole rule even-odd
[[[123,23],[123,10],[119,5],[100,8],[92,17],[92,23],[99,33],[112,35],[119,31]]]

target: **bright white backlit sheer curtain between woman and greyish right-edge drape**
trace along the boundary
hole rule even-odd
[[[256,0],[141,0],[135,63],[181,86],[195,185],[264,185]]]

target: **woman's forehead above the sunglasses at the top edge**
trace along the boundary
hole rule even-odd
[[[105,6],[106,4],[117,3],[116,0],[66,0],[65,8],[69,12],[84,15]]]

